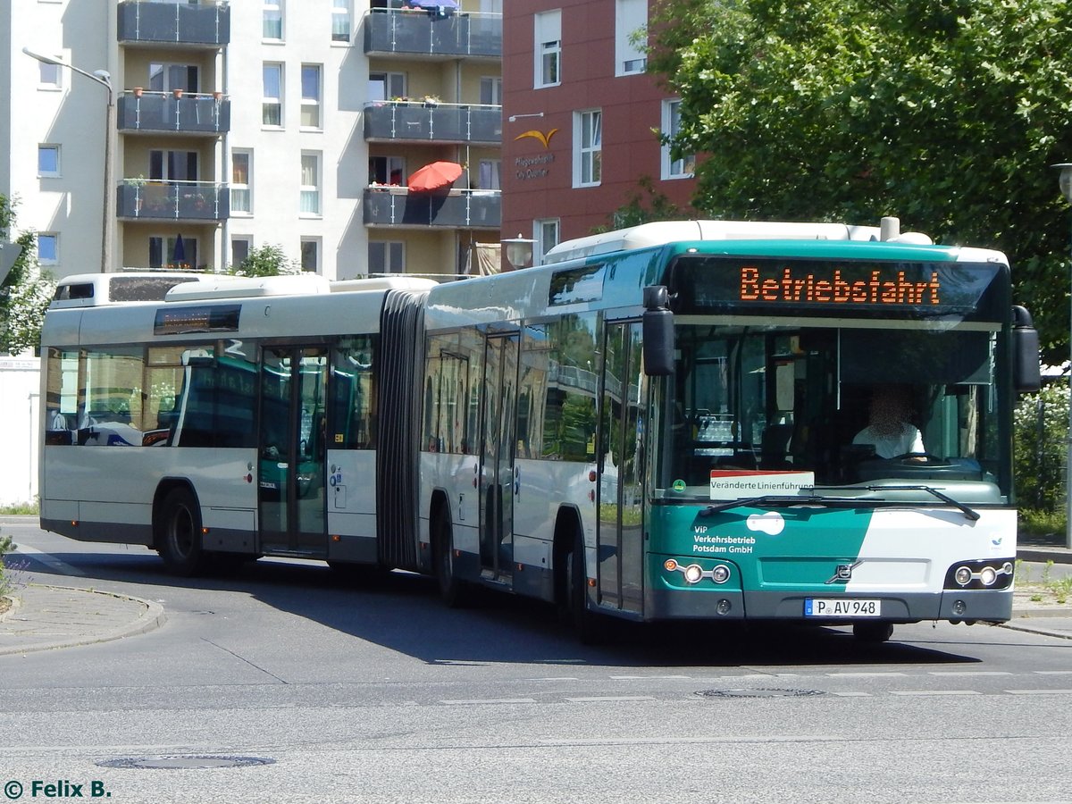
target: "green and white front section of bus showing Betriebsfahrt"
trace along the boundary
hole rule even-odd
[[[420,539],[448,602],[555,601],[582,638],[601,615],[878,641],[1009,619],[1038,337],[1002,254],[693,221],[549,258],[426,302]],[[896,453],[861,437],[890,396]]]

